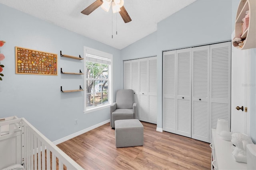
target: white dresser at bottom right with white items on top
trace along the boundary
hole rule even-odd
[[[216,129],[212,129],[212,170],[246,170],[247,164],[232,158],[232,143],[220,139]]]

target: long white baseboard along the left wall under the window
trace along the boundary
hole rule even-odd
[[[82,131],[78,131],[78,132],[76,132],[76,133],[73,133],[73,134],[71,134],[71,135],[68,135],[68,136],[66,136],[66,137],[63,137],[63,138],[58,139],[58,140],[56,140],[56,141],[53,141],[52,143],[54,143],[55,145],[58,145],[58,144],[60,144],[60,143],[62,143],[62,142],[68,141],[69,139],[72,139],[72,138],[74,138],[74,137],[77,137],[78,135],[81,135],[81,134],[83,134],[83,133],[86,133],[86,132],[88,132],[88,131],[90,131],[90,130],[92,130],[92,129],[95,129],[95,128],[97,128],[97,127],[100,127],[100,126],[102,126],[102,125],[105,125],[105,124],[108,123],[108,122],[110,122],[110,119],[108,119],[108,120],[106,120],[106,121],[103,121],[103,122],[101,122],[101,123],[98,123],[98,124],[96,124],[96,125],[93,125],[93,126],[91,126],[91,127],[88,127],[88,128],[86,128],[86,129],[83,129]]]

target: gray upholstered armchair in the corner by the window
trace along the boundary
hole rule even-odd
[[[110,126],[114,128],[115,121],[121,119],[136,119],[136,103],[131,89],[118,90],[116,102],[110,106]]]

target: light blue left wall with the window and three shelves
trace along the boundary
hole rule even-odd
[[[0,48],[5,59],[0,81],[0,117],[25,117],[51,141],[110,119],[109,108],[84,114],[84,92],[61,93],[84,88],[83,75],[60,74],[84,70],[84,60],[60,57],[63,54],[83,57],[84,46],[113,54],[113,86],[122,88],[120,50],[39,20],[0,4]],[[15,74],[15,46],[58,54],[58,76]],[[114,98],[115,101],[115,98]],[[78,125],[74,125],[78,119]]]

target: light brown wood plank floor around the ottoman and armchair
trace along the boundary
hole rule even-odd
[[[89,170],[211,169],[208,143],[158,132],[155,124],[142,124],[141,147],[116,148],[115,130],[109,123],[57,146]]]

